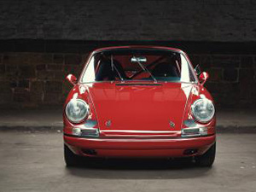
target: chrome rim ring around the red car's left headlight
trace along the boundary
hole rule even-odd
[[[86,113],[84,113],[84,115],[81,116],[79,119],[74,119],[73,117],[71,117],[71,116],[68,115],[68,112],[67,112],[68,106],[71,105],[72,102],[81,102],[81,103],[83,103],[84,108],[86,108]],[[66,105],[66,107],[65,107],[65,115],[66,115],[67,119],[68,119],[70,122],[75,123],[75,124],[81,123],[81,122],[84,121],[84,119],[86,119],[86,118],[89,116],[89,114],[90,114],[89,105],[88,105],[86,102],[84,102],[83,99],[72,99],[72,100],[70,100],[69,102],[67,102],[67,105]]]

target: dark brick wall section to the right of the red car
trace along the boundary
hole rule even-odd
[[[256,106],[256,55],[190,55],[210,74],[206,83],[218,107]]]

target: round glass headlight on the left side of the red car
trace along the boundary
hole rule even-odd
[[[73,99],[66,106],[67,119],[79,123],[89,115],[89,106],[81,99]]]

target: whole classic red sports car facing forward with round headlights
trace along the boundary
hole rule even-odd
[[[215,159],[215,108],[180,49],[119,46],[93,51],[64,106],[67,166],[90,157]],[[87,158],[84,158],[87,157]]]

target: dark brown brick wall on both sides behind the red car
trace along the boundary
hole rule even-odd
[[[79,76],[88,51],[0,53],[0,108],[60,106],[71,89],[65,76]],[[256,54],[189,53],[210,73],[207,89],[218,107],[256,106]]]

